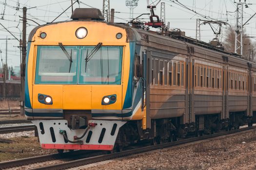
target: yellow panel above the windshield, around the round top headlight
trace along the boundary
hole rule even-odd
[[[76,37],[76,30],[79,27],[85,27],[87,29],[87,36],[83,39]],[[39,37],[40,33],[45,32],[47,36],[42,39]],[[121,33],[123,36],[120,39],[116,38],[116,35]],[[108,25],[104,22],[97,21],[73,21],[65,23],[51,24],[44,27],[40,27],[35,36],[35,43],[49,43],[52,42],[58,45],[62,42],[63,45],[96,45],[98,42],[102,42],[103,46],[108,44],[120,45],[126,41],[126,31],[123,28]]]

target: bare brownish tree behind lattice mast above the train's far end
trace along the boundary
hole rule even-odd
[[[243,58],[249,61],[256,62],[256,44],[251,41],[249,37],[246,37],[245,30],[243,32]],[[234,52],[235,51],[235,37],[236,32],[234,28],[230,28],[226,31],[224,41],[222,42],[225,51]],[[238,51],[240,53],[240,51]]]

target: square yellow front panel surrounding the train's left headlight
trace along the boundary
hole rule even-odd
[[[38,94],[49,95],[53,104],[43,104],[38,101]],[[33,85],[33,108],[34,109],[61,109],[62,108],[62,85]]]

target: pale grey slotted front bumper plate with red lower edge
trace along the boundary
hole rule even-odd
[[[65,131],[66,136],[71,141],[74,136],[82,136],[85,129],[72,130],[67,126],[67,120],[32,120],[37,126],[39,140],[43,149],[68,149],[68,150],[113,150],[119,128],[126,121],[118,120],[89,120],[88,123],[97,123],[91,126],[80,143],[70,143],[65,141],[64,136],[59,131]]]

